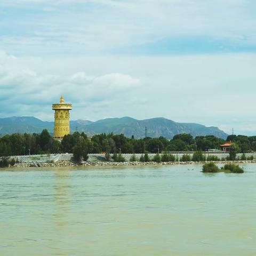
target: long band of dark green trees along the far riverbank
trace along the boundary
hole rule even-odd
[[[235,153],[256,151],[256,136],[229,135],[226,141],[233,141]],[[65,135],[60,142],[54,140],[47,130],[40,134],[4,135],[0,138],[0,156],[34,155],[51,153],[73,153],[86,158],[90,153],[144,154],[170,151],[205,151],[219,149],[225,140],[213,135],[193,138],[190,134],[177,134],[169,140],[164,137],[143,139],[127,138],[124,134],[96,134],[92,138],[82,132]]]

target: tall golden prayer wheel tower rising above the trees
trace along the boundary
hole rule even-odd
[[[70,134],[69,127],[69,110],[72,109],[72,104],[65,103],[61,95],[60,103],[53,104],[52,109],[55,110],[54,115],[54,138],[63,139],[67,134]]]

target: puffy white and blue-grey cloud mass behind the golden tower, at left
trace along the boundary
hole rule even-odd
[[[39,118],[52,118],[51,104],[59,101],[60,94],[64,94],[67,101],[75,105],[75,115],[83,118],[81,109],[95,107],[100,111],[103,106],[123,99],[126,90],[140,87],[141,81],[130,75],[109,73],[102,75],[87,75],[84,71],[75,74],[42,74],[23,62],[21,70],[15,68],[15,62],[22,60],[12,59],[6,54],[0,58],[0,108],[1,117],[11,115],[34,115]],[[11,60],[11,63],[8,62]],[[42,65],[42,60],[38,60]],[[33,60],[34,62],[34,60]],[[53,62],[54,63],[54,62]],[[12,65],[14,68],[12,69]],[[51,61],[44,61],[44,65],[52,65]],[[54,69],[54,66],[52,66]],[[126,99],[126,102],[129,100]],[[116,104],[120,103],[117,101]],[[98,109],[98,110],[97,110]],[[93,115],[88,117],[95,119]]]

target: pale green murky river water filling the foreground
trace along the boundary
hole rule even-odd
[[[256,255],[256,165],[4,169],[0,255]]]

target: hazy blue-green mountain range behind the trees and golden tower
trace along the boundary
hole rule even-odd
[[[206,127],[194,123],[177,123],[163,117],[145,120],[122,117],[107,118],[96,122],[86,120],[70,121],[71,132],[85,132],[89,136],[113,132],[114,134],[123,133],[126,137],[134,135],[134,138],[143,138],[145,137],[146,126],[147,136],[152,138],[163,136],[172,139],[175,134],[179,133],[190,133],[193,137],[214,135],[222,139],[226,139],[228,135],[218,127]],[[53,127],[54,122],[44,122],[30,116],[0,118],[0,135],[25,132],[40,133],[43,129],[53,133]]]

